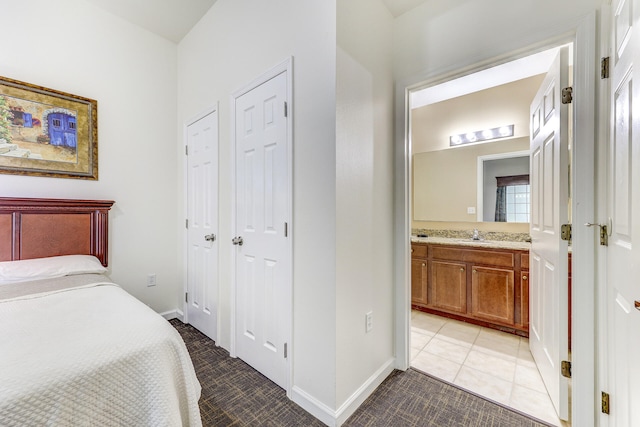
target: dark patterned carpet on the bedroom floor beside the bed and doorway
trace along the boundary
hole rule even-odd
[[[178,330],[202,385],[200,413],[207,426],[323,426],[287,399],[283,389],[179,320]],[[536,427],[542,422],[414,369],[394,371],[343,426]]]

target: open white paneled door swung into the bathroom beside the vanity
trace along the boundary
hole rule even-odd
[[[560,49],[531,104],[529,345],[558,416],[569,417],[568,360],[568,48]]]

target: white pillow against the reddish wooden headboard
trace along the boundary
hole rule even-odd
[[[63,255],[3,261],[0,262],[0,285],[74,274],[102,274],[106,271],[107,269],[93,255]]]

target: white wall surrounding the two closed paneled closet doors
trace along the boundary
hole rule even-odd
[[[219,102],[219,344],[226,348],[234,248],[230,95],[293,56],[292,380],[294,391],[329,411],[336,369],[335,21],[335,0],[218,0],[178,46],[179,123]]]

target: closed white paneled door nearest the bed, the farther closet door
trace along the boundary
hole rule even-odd
[[[218,112],[187,126],[187,321],[217,341]]]

